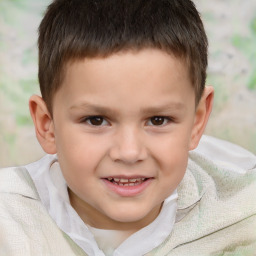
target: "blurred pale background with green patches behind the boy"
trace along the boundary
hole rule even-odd
[[[43,156],[28,99],[39,94],[37,27],[49,0],[0,0],[0,167]],[[256,153],[256,1],[195,0],[209,37],[215,105],[206,134]]]

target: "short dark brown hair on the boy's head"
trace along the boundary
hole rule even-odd
[[[52,98],[65,65],[85,57],[158,48],[183,58],[196,103],[205,86],[208,41],[190,0],[55,0],[39,27],[39,83],[52,113]]]

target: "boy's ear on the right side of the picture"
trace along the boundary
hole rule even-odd
[[[209,116],[212,111],[214,98],[214,89],[212,86],[206,86],[200,102],[196,108],[195,121],[191,133],[190,150],[197,147],[205,127],[207,125]]]

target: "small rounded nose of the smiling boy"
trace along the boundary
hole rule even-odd
[[[134,164],[147,158],[143,135],[138,129],[126,127],[115,134],[110,149],[113,161]]]

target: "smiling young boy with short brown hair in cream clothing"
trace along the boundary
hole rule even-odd
[[[29,102],[47,155],[0,171],[0,255],[256,255],[256,157],[198,146],[206,67],[190,0],[55,0]]]

